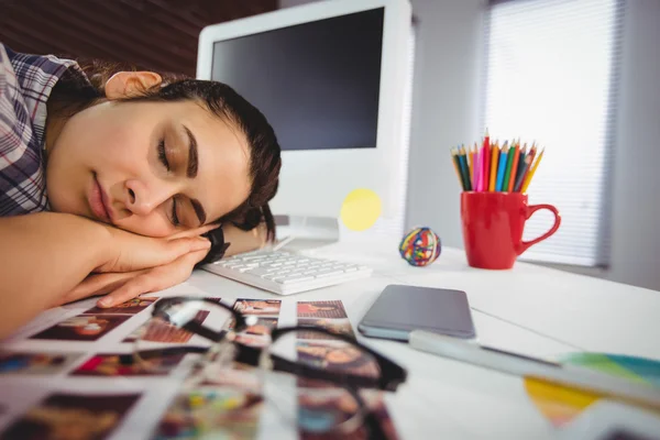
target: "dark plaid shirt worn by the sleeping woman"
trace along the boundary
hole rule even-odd
[[[0,43],[0,217],[48,209],[46,100],[76,62],[16,54]]]

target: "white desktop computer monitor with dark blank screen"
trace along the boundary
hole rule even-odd
[[[396,212],[410,23],[407,0],[327,0],[202,30],[197,77],[233,87],[282,145],[275,215],[337,219],[358,188]]]

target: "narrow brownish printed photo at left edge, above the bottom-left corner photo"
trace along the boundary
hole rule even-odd
[[[68,369],[82,354],[0,351],[0,374],[55,374]]]

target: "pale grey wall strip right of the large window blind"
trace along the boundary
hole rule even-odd
[[[626,3],[606,276],[660,290],[660,1]]]

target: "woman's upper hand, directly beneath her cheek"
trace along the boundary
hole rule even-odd
[[[162,239],[106,227],[110,234],[110,251],[105,263],[92,272],[135,272],[172,263],[190,252],[204,251],[206,255],[211,243],[199,235],[218,227],[210,224]]]

